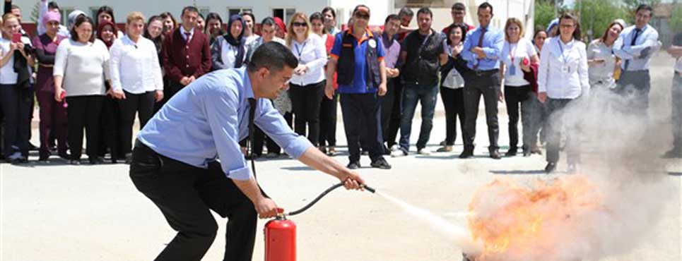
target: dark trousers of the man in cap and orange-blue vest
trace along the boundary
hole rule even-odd
[[[360,161],[360,137],[363,137],[363,145],[367,146],[372,162],[381,159],[381,103],[377,94],[341,94],[341,112],[351,162]]]

